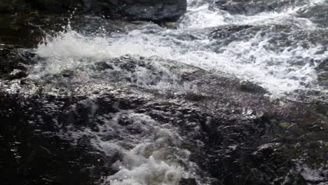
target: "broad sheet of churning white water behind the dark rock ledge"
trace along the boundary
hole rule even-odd
[[[315,68],[328,57],[328,51],[324,43],[311,42],[310,35],[315,37],[321,32],[320,36],[324,36],[327,29],[310,18],[301,18],[299,12],[327,6],[327,2],[303,1],[296,5],[255,15],[233,15],[210,8],[203,1],[189,1],[189,11],[177,29],[145,23],[126,33],[103,36],[69,29],[39,45],[36,53],[48,61],[42,64],[42,71],[36,67],[31,77],[74,69],[86,63],[81,58],[96,62],[135,54],[224,71],[257,83],[275,96],[294,90],[322,90],[317,85]],[[249,28],[238,31],[242,25]],[[237,31],[224,31],[228,26]],[[215,31],[219,27],[223,28]]]

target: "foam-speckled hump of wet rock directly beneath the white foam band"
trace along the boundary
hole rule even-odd
[[[153,60],[159,62],[153,63]],[[45,65],[41,69],[47,69],[47,66]],[[177,67],[158,57],[144,58],[126,55],[95,62],[95,64],[81,65],[76,71],[62,70],[57,74],[43,74],[41,81],[53,83],[102,81],[103,83],[130,83],[141,87],[150,86],[163,89],[183,88],[184,84],[177,71]],[[32,71],[31,75],[38,76],[36,74],[39,72],[41,71]]]

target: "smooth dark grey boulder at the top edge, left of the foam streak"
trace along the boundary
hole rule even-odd
[[[174,21],[186,12],[186,0],[29,0],[41,10],[67,12],[82,10],[85,13],[104,15],[111,19]]]

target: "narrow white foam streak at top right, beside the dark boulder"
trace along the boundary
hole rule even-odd
[[[315,24],[306,18],[295,17],[296,13],[310,6],[324,4],[324,0],[308,1],[308,4],[296,7],[287,7],[282,11],[271,11],[258,13],[256,15],[231,15],[218,8],[211,10],[209,4],[197,4],[194,0],[189,0],[189,11],[186,18],[182,20],[181,28],[199,29],[205,27],[217,27],[222,25],[263,25],[263,24],[283,24],[290,22],[299,25],[301,28],[313,29]]]

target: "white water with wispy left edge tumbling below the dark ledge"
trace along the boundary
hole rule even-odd
[[[97,109],[93,100],[83,100],[79,104],[93,107],[93,111]],[[72,107],[74,109],[76,107]],[[133,124],[118,124],[121,116],[133,120]],[[109,156],[115,156],[114,153],[120,156],[111,166],[118,172],[104,177],[104,185],[176,185],[182,177],[204,178],[196,176],[196,165],[189,161],[189,151],[181,149],[182,138],[172,125],[160,125],[145,114],[121,110],[111,123],[98,126],[100,132],[93,132],[89,128],[75,130],[73,127],[68,133],[69,138],[76,141],[88,135],[93,138],[91,144],[98,151]],[[132,128],[140,132],[131,133]],[[67,132],[62,134],[62,137],[67,137]],[[109,135],[117,136],[110,141],[104,140]]]

